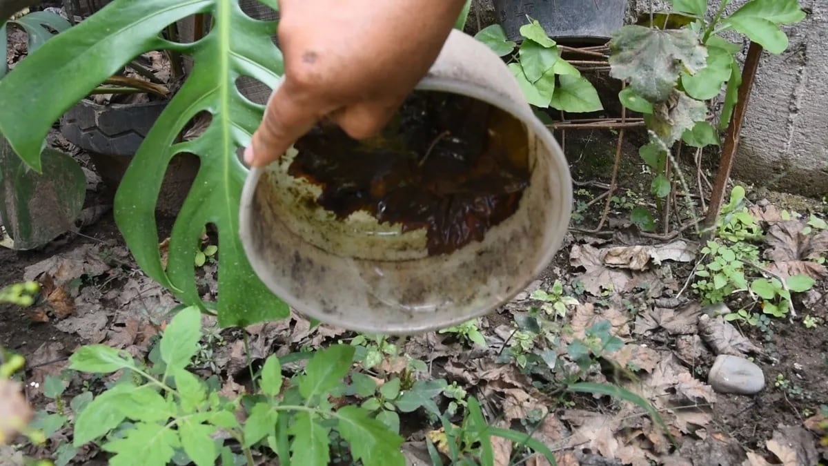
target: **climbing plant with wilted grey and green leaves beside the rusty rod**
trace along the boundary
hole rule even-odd
[[[788,40],[779,27],[805,17],[797,0],[750,0],[725,16],[729,2],[721,0],[715,11],[708,12],[709,2],[672,0],[674,11],[651,12],[638,24],[621,27],[609,41],[610,75],[628,85],[619,100],[627,109],[643,114],[650,133],[650,142],[640,148],[639,155],[655,174],[651,192],[659,206],[672,192],[673,180],[666,168],[673,145],[681,140],[692,148],[718,146],[718,131],[729,125],[733,115],[741,85],[736,56],[742,47],[722,33],[738,32],[780,54]],[[723,88],[724,104],[716,128],[709,121],[710,101]],[[672,172],[687,189],[678,167]],[[644,221],[647,213],[646,209],[636,211],[636,223],[654,223],[652,215]]]

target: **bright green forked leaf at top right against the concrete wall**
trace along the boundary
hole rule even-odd
[[[806,17],[797,0],[753,0],[724,19],[721,28],[732,27],[765,50],[779,54],[787,49],[780,24],[801,22]]]

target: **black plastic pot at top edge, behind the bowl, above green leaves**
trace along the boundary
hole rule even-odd
[[[601,44],[623,26],[628,0],[494,0],[498,21],[511,41],[522,41],[520,27],[541,23],[556,41]]]

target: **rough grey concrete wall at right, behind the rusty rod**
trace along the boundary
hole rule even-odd
[[[729,12],[746,0],[734,0]],[[629,0],[627,20],[665,7],[663,0]],[[709,0],[711,8],[719,0]],[[828,0],[799,0],[808,15],[792,27],[788,50],[763,53],[750,96],[734,177],[758,187],[806,196],[828,194]],[[481,17],[493,18],[490,0],[480,0]],[[474,12],[469,17],[474,25]],[[490,22],[489,22],[490,23]],[[484,26],[486,24],[484,23]],[[747,41],[742,41],[744,60]]]

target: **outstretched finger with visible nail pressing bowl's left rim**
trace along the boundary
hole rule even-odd
[[[253,133],[253,141],[244,151],[244,162],[252,167],[263,167],[286,153],[296,139],[307,133],[319,119],[317,109],[301,93],[291,92],[286,81],[267,101],[262,124]]]

